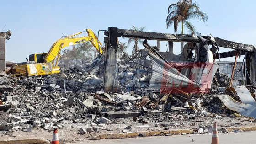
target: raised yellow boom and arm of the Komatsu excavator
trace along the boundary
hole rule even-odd
[[[62,48],[67,46],[71,46],[78,43],[83,43],[86,41],[90,41],[91,44],[96,48],[96,50],[102,54],[101,43],[97,39],[96,35],[91,31],[91,29],[86,29],[88,33],[87,37],[74,37],[82,32],[75,33],[73,35],[60,38],[55,43],[53,43],[52,47],[50,48],[49,52],[46,54],[45,62],[53,62],[55,59],[59,59],[59,53]],[[58,56],[58,57],[56,57]]]

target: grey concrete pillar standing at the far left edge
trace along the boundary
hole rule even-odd
[[[5,70],[5,38],[6,33],[0,32],[0,70]]]

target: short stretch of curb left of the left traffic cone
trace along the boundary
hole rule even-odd
[[[49,141],[43,139],[5,139],[0,140],[0,144],[49,144]]]

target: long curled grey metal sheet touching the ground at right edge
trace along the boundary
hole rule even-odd
[[[229,95],[217,95],[223,104],[228,107],[230,110],[240,112],[246,117],[256,118],[256,107],[250,104],[240,103],[235,101]]]

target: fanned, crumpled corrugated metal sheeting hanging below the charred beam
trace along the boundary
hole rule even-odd
[[[170,88],[173,84],[172,88],[177,87],[180,89],[181,87],[186,87],[187,93],[199,91],[207,93],[207,90],[211,88],[211,81],[213,80],[216,70],[218,69],[218,64],[213,63],[209,66],[203,64],[202,68],[192,70],[191,74],[189,74],[189,78],[191,75],[195,75],[194,78],[192,76],[192,80],[181,74],[171,65],[171,63],[168,63],[165,59],[161,58],[157,52],[153,52],[149,48],[146,48],[146,51],[149,53],[152,68],[152,76],[149,81],[150,88],[160,89],[160,91],[163,91],[165,90],[165,87]],[[203,74],[207,74],[207,76],[202,76]],[[197,82],[195,82],[195,80]],[[180,87],[180,85],[182,86]],[[199,90],[199,87],[201,90]]]

